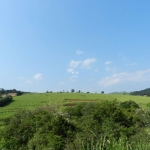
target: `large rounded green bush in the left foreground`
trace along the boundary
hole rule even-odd
[[[51,108],[35,111],[21,111],[6,120],[1,138],[6,149],[44,149],[61,150],[67,140],[74,136],[76,127],[63,115]]]

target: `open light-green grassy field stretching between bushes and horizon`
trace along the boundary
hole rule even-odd
[[[90,94],[90,93],[36,93],[24,94],[13,97],[13,102],[5,107],[0,107],[0,118],[13,115],[20,109],[34,109],[44,105],[74,106],[80,102],[98,102],[100,100],[128,101],[133,100],[141,107],[146,108],[150,97],[113,95],[113,94]]]

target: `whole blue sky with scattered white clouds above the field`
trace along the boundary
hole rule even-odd
[[[149,88],[149,8],[149,0],[1,0],[0,88]]]

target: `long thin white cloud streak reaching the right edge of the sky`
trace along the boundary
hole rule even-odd
[[[122,72],[119,74],[114,74],[111,77],[102,78],[99,84],[103,86],[110,86],[123,82],[140,82],[140,81],[150,81],[150,69],[137,71],[134,73]]]

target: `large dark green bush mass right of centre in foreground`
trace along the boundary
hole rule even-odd
[[[115,139],[116,141],[121,137],[130,139],[131,136],[142,130],[140,124],[138,124],[141,121],[138,115],[120,107],[116,101],[81,103],[73,108],[67,108],[66,111],[80,129],[71,144],[74,149],[80,149],[78,145],[89,145],[91,139],[93,144],[96,145],[97,140],[101,137],[106,137],[107,140]],[[80,141],[82,141],[82,144]]]

